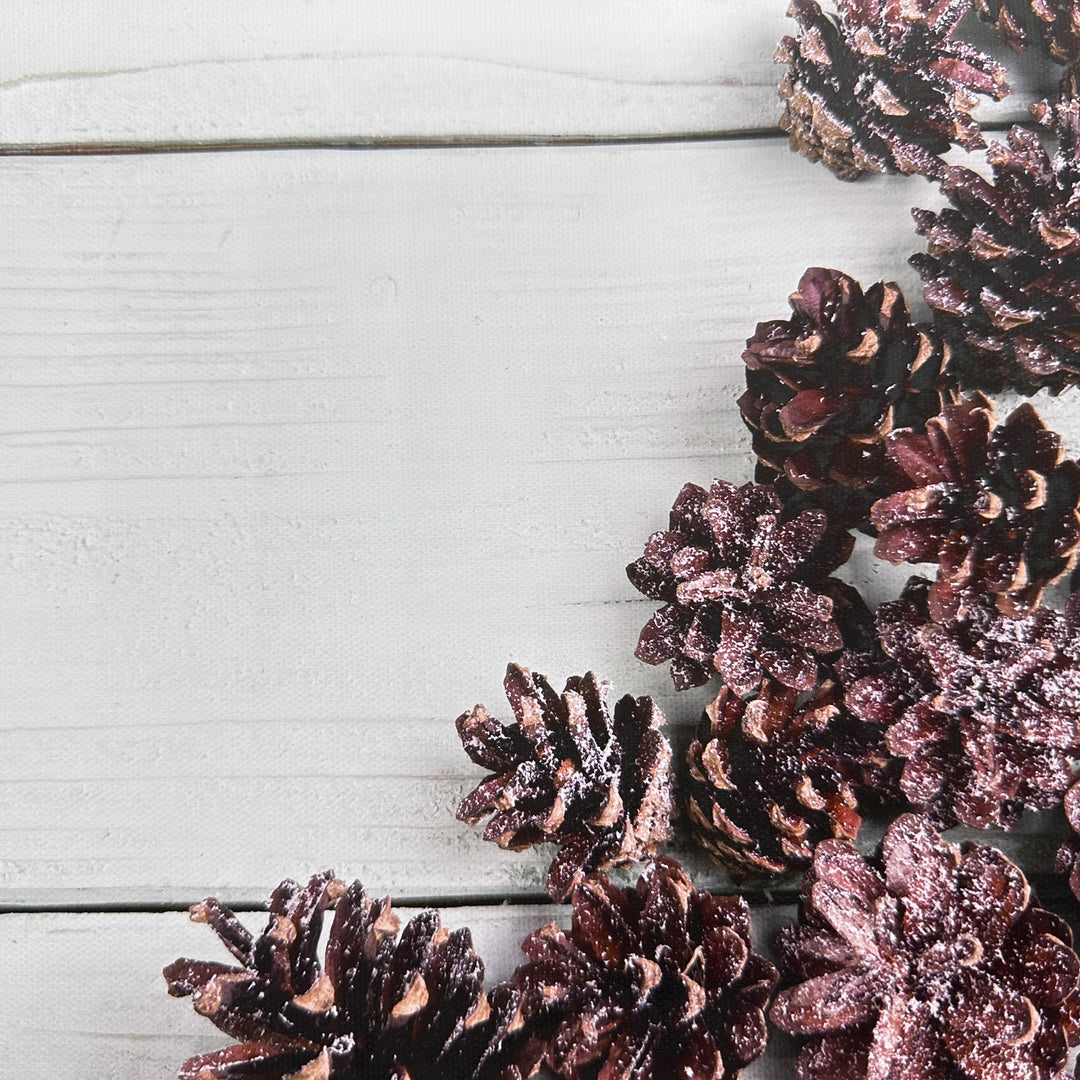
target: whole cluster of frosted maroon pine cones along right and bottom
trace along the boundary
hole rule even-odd
[[[1063,808],[1056,870],[1080,899],[1080,590],[1043,602],[1080,563],[1080,464],[1031,404],[999,417],[984,396],[1080,383],[1080,0],[834,3],[793,0],[782,126],[843,179],[941,186],[953,206],[915,211],[912,259],[933,315],[811,268],[791,318],[747,341],[757,482],[687,484],[626,568],[662,605],[637,657],[677,689],[720,683],[681,775],[651,698],[510,665],[513,719],[457,720],[488,773],[458,818],[503,848],[555,845],[570,929],[539,928],[485,988],[468,930],[434,912],[402,929],[329,872],[283,882],[259,935],[204,901],[191,916],[234,962],[165,977],[237,1041],[181,1080],[735,1080],[767,1018],[801,1040],[797,1080],[1064,1080],[1071,931],[999,851],[941,832]],[[1066,66],[1032,108],[1057,150],[1013,127],[989,179],[941,157],[985,148],[972,110],[1009,92],[954,38],[969,11]],[[835,576],[859,532],[931,576],[872,613]],[[867,808],[900,813],[874,856],[854,842]],[[742,897],[657,854],[680,809],[737,877],[806,872],[777,964]],[[642,860],[636,886],[608,878]]]

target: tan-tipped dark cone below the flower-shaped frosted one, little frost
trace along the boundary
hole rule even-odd
[[[880,733],[839,707],[832,680],[811,694],[766,683],[753,701],[727,687],[687,753],[698,841],[737,874],[805,869],[828,837],[854,839],[858,794],[890,765]]]

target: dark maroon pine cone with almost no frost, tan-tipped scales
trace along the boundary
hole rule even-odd
[[[739,399],[759,481],[785,504],[818,505],[834,525],[864,526],[885,482],[885,436],[921,430],[942,407],[948,349],[912,324],[894,282],[864,294],[839,270],[811,267],[789,320],[758,323]],[[805,495],[802,494],[805,492]]]

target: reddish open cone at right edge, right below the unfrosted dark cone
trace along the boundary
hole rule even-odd
[[[1080,550],[1080,465],[1028,404],[997,423],[982,395],[946,405],[926,434],[887,440],[908,490],[870,511],[875,554],[939,564],[930,591],[937,621],[963,617],[984,592],[1014,613],[1038,604]]]

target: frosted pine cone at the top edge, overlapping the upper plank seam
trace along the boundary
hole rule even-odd
[[[814,0],[792,0],[799,24],[777,63],[780,126],[793,150],[823,161],[842,180],[864,172],[936,177],[937,154],[954,143],[985,146],[971,110],[983,94],[1009,93],[1004,69],[949,40],[971,0],[837,0],[826,15]]]

